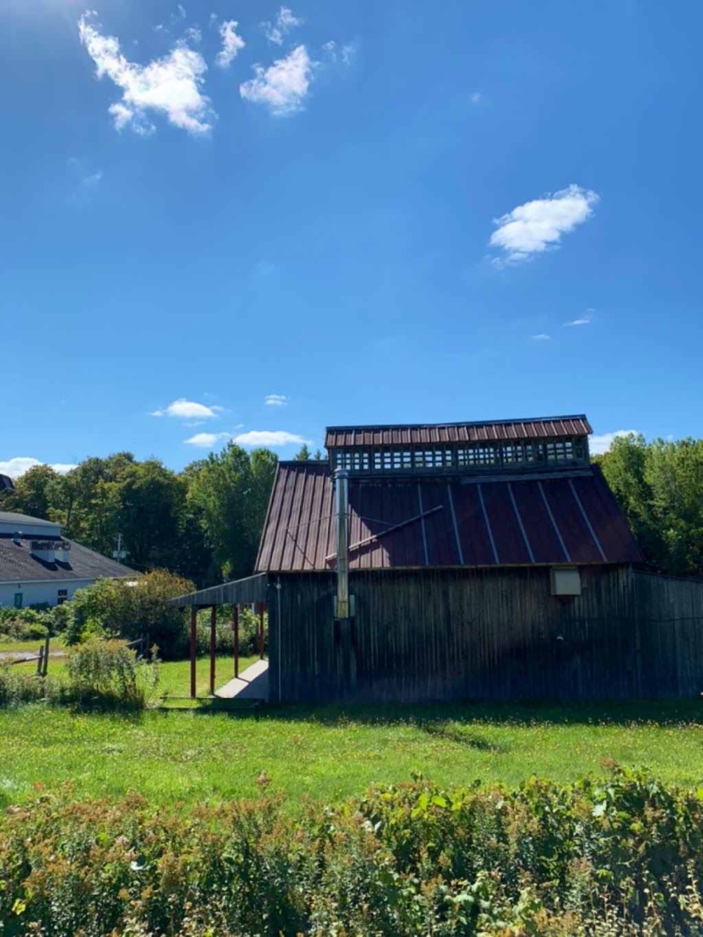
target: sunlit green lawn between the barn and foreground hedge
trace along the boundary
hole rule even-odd
[[[187,675],[186,665],[173,665],[174,674],[176,667]],[[262,770],[292,810],[306,795],[337,802],[373,781],[406,781],[414,772],[441,784],[512,785],[532,774],[572,781],[615,761],[698,787],[703,708],[697,701],[294,706],[261,715],[125,717],[39,705],[0,710],[0,751],[0,807],[29,795],[36,782],[72,781],[77,796],[134,789],[155,805],[252,796]]]

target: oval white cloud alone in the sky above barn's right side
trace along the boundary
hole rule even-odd
[[[495,218],[498,231],[493,231],[489,245],[503,251],[498,265],[531,260],[536,254],[555,249],[562,234],[574,231],[592,216],[597,201],[595,192],[572,185],[544,199],[526,201]]]

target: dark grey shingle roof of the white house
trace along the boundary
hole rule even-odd
[[[0,535],[0,582],[116,579],[135,574],[128,566],[103,557],[80,543],[71,543],[70,559],[67,563],[48,563],[33,557],[29,552],[29,544],[30,540],[26,537],[22,538],[22,543],[15,543],[11,535]]]

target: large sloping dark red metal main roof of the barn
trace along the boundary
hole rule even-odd
[[[525,481],[352,478],[349,505],[351,570],[643,560],[597,466]],[[335,549],[328,467],[280,463],[256,572],[334,569]]]

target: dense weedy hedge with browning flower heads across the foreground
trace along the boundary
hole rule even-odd
[[[6,934],[703,934],[703,799],[642,773],[418,780],[296,818],[265,790],[185,815],[70,796],[0,822]]]

